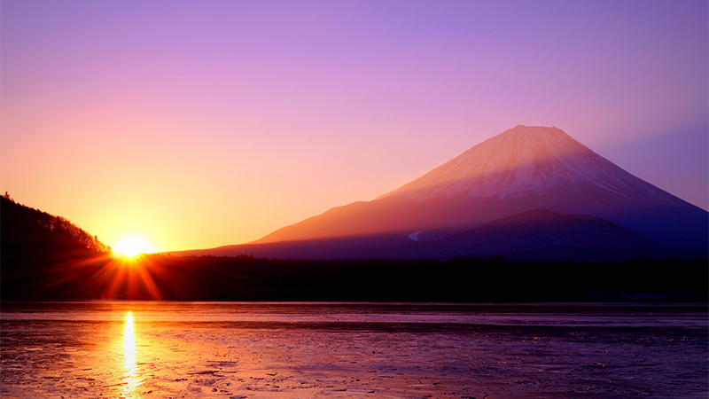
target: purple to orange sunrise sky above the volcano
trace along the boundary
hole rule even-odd
[[[706,1],[0,3],[0,192],[115,246],[260,239],[519,124],[709,207]]]

